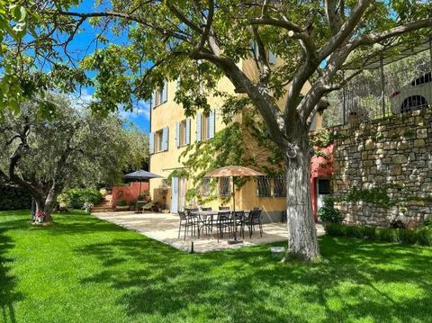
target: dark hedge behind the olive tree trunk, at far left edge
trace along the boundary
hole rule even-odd
[[[31,195],[23,188],[0,182],[0,211],[31,209]]]

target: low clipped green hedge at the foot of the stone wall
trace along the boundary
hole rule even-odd
[[[374,241],[432,246],[432,227],[430,226],[409,230],[329,223],[325,226],[325,229],[329,236],[334,237],[365,238]]]

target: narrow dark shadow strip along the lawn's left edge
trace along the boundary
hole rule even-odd
[[[23,294],[14,292],[16,278],[10,274],[13,258],[5,255],[8,249],[14,247],[14,241],[12,238],[7,237],[5,232],[6,229],[2,225],[0,228],[0,308],[2,309],[3,322],[7,323],[16,322],[14,302],[22,301]]]

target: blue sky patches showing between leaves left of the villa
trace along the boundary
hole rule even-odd
[[[72,8],[71,11],[86,13],[94,12],[94,1],[83,1],[82,4],[79,4],[77,8]],[[74,40],[69,43],[67,47],[68,51],[73,53],[76,59],[79,59],[93,53],[97,48],[103,48],[103,44],[94,41],[97,32],[98,31],[94,30],[94,28],[88,22],[83,23],[81,26],[81,32],[76,34]],[[121,35],[119,37],[109,32],[105,33],[105,36],[111,43],[125,44],[128,42],[127,36],[125,35]],[[89,76],[92,77],[93,75],[89,74]],[[74,96],[76,97],[76,101],[78,103],[85,104],[93,100],[93,93],[94,88],[86,87],[82,88],[80,93],[76,93]],[[139,130],[143,130],[148,133],[150,112],[148,103],[139,101],[135,103],[133,112],[125,112],[121,109],[119,109],[119,112],[121,113],[122,117],[134,123],[139,128]]]

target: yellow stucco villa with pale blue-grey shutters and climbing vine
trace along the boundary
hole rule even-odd
[[[271,62],[276,64],[275,58]],[[252,64],[251,59],[240,61],[238,64],[251,79],[257,78],[257,68]],[[186,118],[183,107],[174,101],[176,86],[176,82],[168,82],[160,91],[153,94],[150,104],[149,134],[149,171],[165,177],[150,181],[150,194],[153,201],[166,204],[166,207],[173,213],[183,211],[184,207],[193,204],[193,201],[186,201],[187,190],[192,186],[188,183],[187,178],[172,177],[169,185],[166,181],[166,178],[173,172],[184,169],[183,164],[179,161],[180,155],[189,145],[197,141],[212,139],[218,131],[227,127],[222,122],[220,112],[222,98],[209,97],[208,103],[211,105],[209,113],[198,112],[193,118]],[[234,86],[226,77],[220,80],[218,87],[224,92],[234,94]],[[280,103],[282,104],[283,101],[284,98]],[[242,124],[244,123],[242,118],[243,115],[238,113],[232,121]],[[313,123],[312,127],[315,129],[317,126],[320,127],[320,118]],[[252,137],[245,138],[243,141],[247,146],[244,149],[247,154],[258,157],[258,163],[268,163],[269,152],[258,148]],[[205,206],[211,206],[213,210],[218,210],[222,204],[232,208],[232,205],[229,205],[232,204],[232,199],[227,199],[227,196],[231,194],[230,181],[230,178],[221,178],[217,189],[219,197],[211,202],[206,202]],[[283,220],[284,210],[286,210],[284,181],[284,175],[262,176],[248,180],[236,190],[236,208],[251,210],[259,206],[263,208],[264,222]]]

